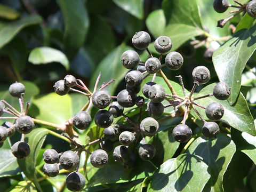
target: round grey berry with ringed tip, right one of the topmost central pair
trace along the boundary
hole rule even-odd
[[[172,41],[167,36],[160,36],[155,41],[155,49],[158,53],[167,53],[172,48]]]

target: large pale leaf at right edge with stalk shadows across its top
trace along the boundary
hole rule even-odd
[[[242,29],[213,53],[212,61],[220,82],[226,82],[232,89],[228,99],[230,105],[236,102],[241,87],[241,76],[256,49],[256,25]]]

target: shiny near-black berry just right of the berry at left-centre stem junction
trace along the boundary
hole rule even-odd
[[[114,117],[108,110],[100,110],[94,117],[97,126],[106,128],[113,123]]]

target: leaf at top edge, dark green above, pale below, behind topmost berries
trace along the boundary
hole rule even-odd
[[[172,50],[177,50],[188,39],[204,33],[196,0],[164,0],[162,7],[167,20],[164,35],[171,38]]]

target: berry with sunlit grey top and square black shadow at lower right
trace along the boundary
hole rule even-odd
[[[159,124],[156,121],[156,119],[152,117],[147,117],[143,119],[140,123],[140,131],[143,133],[143,135],[152,136],[156,134],[158,129],[159,129]]]

